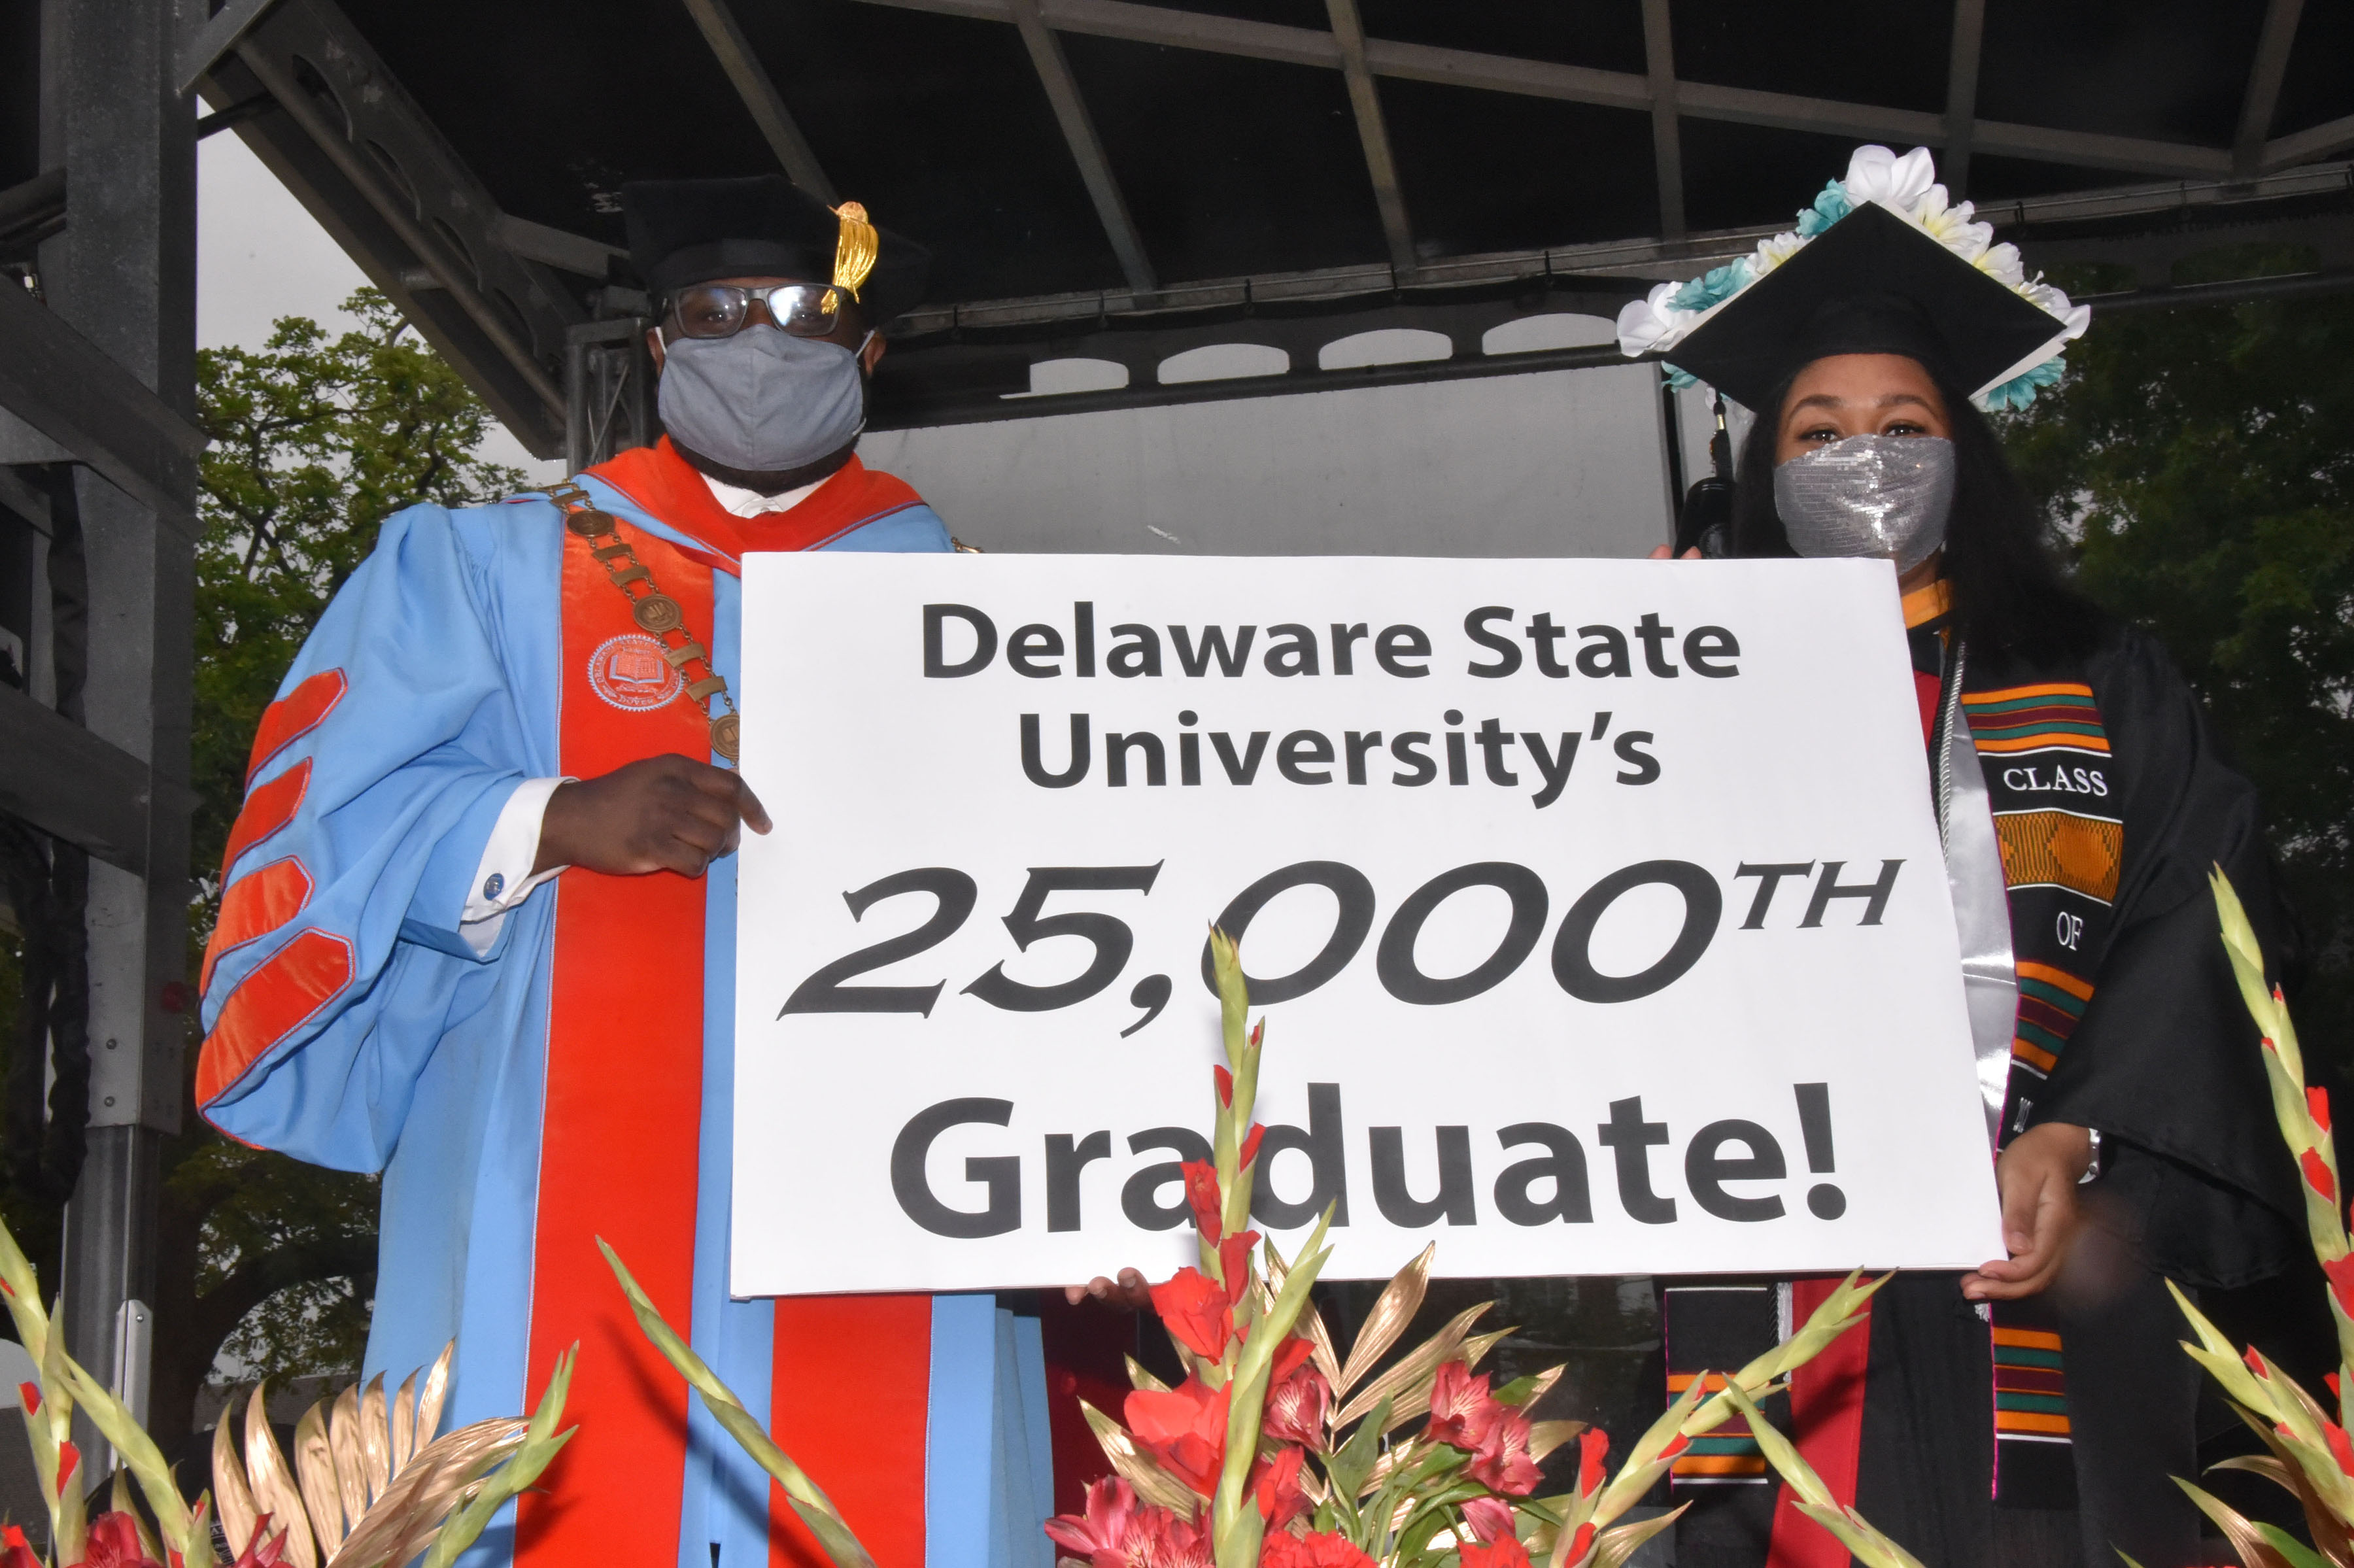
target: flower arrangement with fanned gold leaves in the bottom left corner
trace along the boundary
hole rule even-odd
[[[294,1464],[271,1431],[264,1389],[245,1403],[245,1457],[231,1441],[231,1410],[214,1429],[214,1490],[191,1507],[162,1450],[104,1382],[66,1354],[54,1314],[40,1307],[40,1281],[16,1238],[0,1224],[0,1297],[16,1337],[40,1366],[40,1382],[19,1389],[49,1511],[56,1568],[219,1568],[212,1511],[235,1568],[450,1568],[511,1497],[548,1467],[572,1431],[556,1431],[579,1347],[558,1358],[532,1420],[487,1420],[433,1436],[450,1387],[454,1344],[386,1403],[384,1377],[320,1401],[294,1427]],[[108,1507],[97,1519],[82,1488],[73,1413],[80,1408],[113,1446]],[[148,1516],[132,1502],[137,1479]],[[0,1568],[47,1568],[16,1526],[0,1528]]]

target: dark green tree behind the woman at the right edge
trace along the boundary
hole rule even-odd
[[[2175,283],[2312,266],[2225,250]],[[2166,645],[2262,791],[2298,1024],[2354,1067],[2354,297],[2102,318],[2006,436],[2079,584]]]

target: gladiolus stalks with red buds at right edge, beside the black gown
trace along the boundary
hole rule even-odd
[[[2246,1469],[2288,1488],[2305,1509],[2314,1544],[2302,1544],[2279,1526],[2248,1521],[2189,1481],[2177,1479],[2175,1486],[2222,1528],[2246,1568],[2354,1568],[2354,1441],[2347,1439],[2347,1427],[2354,1427],[2354,1410],[2347,1406],[2349,1368],[2354,1368],[2354,1255],[2347,1245],[2330,1102],[2326,1090],[2305,1083],[2298,1029],[2288,1019],[2288,1001],[2276,986],[2265,984],[2265,956],[2248,925],[2248,911],[2220,869],[2208,881],[2215,888],[2232,975],[2265,1041],[2272,1111],[2305,1175],[2305,1227],[2328,1278],[2330,1318],[2338,1323],[2338,1370],[2328,1375],[2335,1420],[2262,1351],[2253,1347],[2246,1354],[2234,1351],[2232,1342],[2175,1290],[2175,1304],[2199,1335],[2199,1344],[2182,1349],[2222,1384],[2232,1410],[2269,1450],[2269,1455],[2225,1460],[2217,1469]]]

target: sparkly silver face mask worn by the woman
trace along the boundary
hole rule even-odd
[[[1909,572],[1944,544],[1954,443],[1848,436],[1773,471],[1782,532],[1801,556],[1881,556]]]

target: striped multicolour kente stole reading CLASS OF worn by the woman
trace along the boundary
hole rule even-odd
[[[1949,664],[1951,669],[1951,664]],[[1921,678],[1921,720],[1930,756],[1940,683]],[[2057,1069],[2093,1001],[2093,972],[2107,949],[2123,869],[2123,819],[2112,779],[2109,735],[2083,680],[2017,680],[1970,669],[1961,692],[1987,810],[1994,815],[2010,906],[2010,951],[2020,1005],[2010,1043],[2003,1142],[2024,1130],[2041,1083]],[[1702,1370],[1747,1363],[1803,1323],[1834,1281],[1676,1285],[1662,1293],[1669,1396]],[[1994,1497],[2006,1507],[2064,1509],[2076,1502],[2069,1446],[2067,1370],[2057,1321],[2046,1302],[1994,1302],[1987,1318],[1994,1384]],[[1855,1502],[1864,1427],[1864,1368],[1871,1323],[1841,1335],[1791,1382],[1787,1429],[1831,1493]],[[1782,1424],[1784,1410],[1766,1406]],[[1773,1486],[1747,1422],[1721,1427],[1676,1460],[1671,1486]],[[1693,1495],[1693,1493],[1688,1493]],[[1775,1507],[1770,1568],[1843,1568],[1848,1554],[1791,1507]]]

